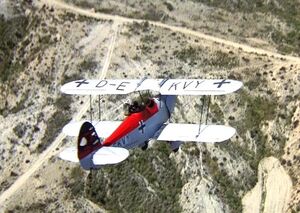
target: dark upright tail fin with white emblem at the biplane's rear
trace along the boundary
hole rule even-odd
[[[94,168],[92,153],[102,147],[95,127],[90,122],[84,122],[80,128],[77,140],[78,158],[84,169]]]

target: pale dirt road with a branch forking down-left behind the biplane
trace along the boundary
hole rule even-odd
[[[107,20],[113,20],[115,23],[115,27],[117,28],[117,24],[116,23],[125,23],[125,22],[143,22],[145,20],[140,20],[140,19],[130,19],[130,18],[125,18],[125,17],[120,17],[120,16],[113,16],[113,15],[108,15],[108,14],[103,14],[103,13],[95,13],[91,10],[85,10],[82,8],[78,8],[76,6],[73,5],[68,5],[64,2],[61,1],[57,1],[57,0],[40,0],[41,4],[47,4],[50,7],[55,7],[55,8],[61,8],[64,10],[68,10],[70,12],[73,13],[77,13],[80,15],[84,15],[87,17],[92,17],[92,18],[96,18],[96,19],[107,19]],[[293,56],[285,56],[285,55],[281,55],[278,54],[276,52],[270,52],[270,51],[266,51],[263,49],[259,49],[259,48],[254,48],[248,45],[244,45],[244,44],[239,44],[236,42],[232,42],[232,41],[228,41],[225,39],[221,39],[221,38],[217,38],[214,36],[210,36],[210,35],[206,35],[203,34],[201,32],[197,32],[197,31],[193,31],[187,28],[183,28],[183,27],[176,27],[176,26],[170,26],[167,24],[163,24],[160,22],[152,22],[150,21],[149,23],[158,26],[158,27],[162,27],[162,28],[166,28],[166,29],[170,29],[172,31],[176,31],[176,32],[181,32],[184,34],[189,34],[189,35],[193,35],[202,39],[206,39],[209,41],[213,41],[219,44],[223,44],[226,46],[231,46],[237,49],[242,49],[245,52],[250,52],[250,53],[256,53],[256,54],[261,54],[261,55],[267,55],[269,57],[275,57],[275,58],[282,58],[282,59],[286,59],[289,61],[293,61],[296,63],[300,63],[300,58],[298,57],[293,57]],[[104,78],[106,76],[109,64],[110,64],[110,59],[113,53],[113,48],[115,45],[115,40],[116,40],[116,36],[117,36],[117,30],[115,30],[114,36],[112,37],[111,40],[111,44],[109,46],[108,49],[108,54],[106,57],[106,60],[104,62],[104,66],[103,66],[103,70],[100,73],[100,75],[98,76],[99,78]],[[75,120],[79,120],[82,115],[87,111],[89,107],[89,104],[85,104],[81,111],[74,117]],[[13,185],[11,185],[6,191],[4,191],[1,195],[0,195],[0,207],[1,205],[4,205],[5,201],[7,199],[9,199],[9,197],[11,197],[19,188],[22,187],[22,185],[28,180],[28,178],[34,173],[36,172],[43,163],[45,163],[50,157],[52,157],[53,155],[57,154],[57,152],[55,151],[56,148],[59,146],[59,144],[61,144],[62,140],[65,138],[65,135],[63,133],[59,134],[59,136],[56,138],[56,140],[47,148],[47,150],[45,150],[36,160],[35,163],[32,164],[32,166],[23,174],[21,175],[15,182]]]

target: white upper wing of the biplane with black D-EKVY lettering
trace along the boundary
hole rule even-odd
[[[128,94],[142,90],[153,90],[162,95],[224,95],[242,85],[240,81],[229,79],[83,79],[64,84],[61,91],[78,95]]]

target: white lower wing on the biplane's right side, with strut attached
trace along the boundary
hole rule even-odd
[[[194,141],[215,143],[226,141],[235,134],[235,129],[223,125],[167,124],[157,140],[161,141]]]

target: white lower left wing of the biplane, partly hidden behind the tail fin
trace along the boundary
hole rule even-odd
[[[85,121],[71,121],[63,128],[63,133],[68,136],[78,136],[81,125]],[[93,126],[100,138],[107,138],[121,124],[121,121],[93,121]]]

